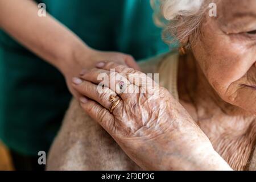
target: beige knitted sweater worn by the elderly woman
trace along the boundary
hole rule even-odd
[[[159,73],[159,84],[178,100],[178,55],[160,55],[139,63],[144,73]],[[256,150],[250,170],[256,170]],[[150,160],[150,159],[148,159]],[[140,170],[114,139],[93,121],[76,100],[65,115],[47,159],[48,170]]]

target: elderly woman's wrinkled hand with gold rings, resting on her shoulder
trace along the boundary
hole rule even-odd
[[[97,67],[101,69],[90,69],[80,78],[73,78],[73,88],[86,96],[80,98],[86,113],[108,131],[135,163],[153,170],[230,169],[166,89],[125,65],[110,62]],[[110,72],[112,68],[115,72]],[[98,80],[98,76],[104,77],[104,81]],[[112,103],[117,104],[113,113],[109,111]]]

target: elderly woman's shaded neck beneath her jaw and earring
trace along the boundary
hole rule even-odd
[[[211,117],[216,112],[230,116],[251,116],[250,113],[225,102],[218,96],[192,53],[180,56],[178,85],[180,100],[192,104],[197,119]],[[198,113],[199,110],[201,114]]]

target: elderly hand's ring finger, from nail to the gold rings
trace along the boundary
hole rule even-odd
[[[106,109],[109,109],[112,105],[112,102],[110,102],[110,96],[114,95],[116,96],[116,93],[113,92],[113,90],[101,86],[93,84],[92,82],[81,80],[80,78],[73,78],[73,88],[79,92],[80,94],[97,101],[99,104],[101,104]]]

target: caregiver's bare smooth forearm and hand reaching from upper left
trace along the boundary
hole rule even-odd
[[[0,28],[59,69],[75,97],[78,98],[79,94],[72,88],[71,78],[83,68],[93,68],[96,61],[111,60],[138,69],[133,57],[118,52],[96,51],[50,14],[42,18],[36,12],[38,4],[35,1],[0,0]]]

